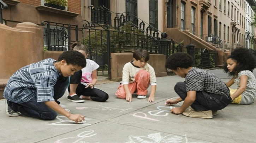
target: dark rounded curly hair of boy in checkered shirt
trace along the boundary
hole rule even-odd
[[[187,69],[193,66],[193,62],[193,58],[189,54],[177,52],[166,59],[165,67],[171,70],[177,70],[177,67]]]

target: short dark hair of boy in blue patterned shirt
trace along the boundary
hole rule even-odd
[[[78,65],[81,67],[86,66],[86,59],[84,55],[78,51],[65,51],[60,54],[58,61],[66,60],[67,64]]]

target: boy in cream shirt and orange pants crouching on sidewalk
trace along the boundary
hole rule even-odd
[[[155,101],[156,76],[152,66],[147,61],[149,53],[147,50],[138,49],[133,52],[133,61],[126,63],[123,68],[123,81],[118,86],[115,95],[118,98],[132,101],[132,93],[136,92],[138,99],[145,99],[148,87],[151,86],[148,102]]]

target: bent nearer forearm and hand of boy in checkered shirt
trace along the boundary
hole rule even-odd
[[[181,114],[185,111],[191,104],[196,100],[196,91],[187,91],[187,97],[185,98],[181,107],[176,107],[171,109],[171,112],[174,114]]]

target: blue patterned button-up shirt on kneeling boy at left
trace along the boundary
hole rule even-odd
[[[4,98],[14,103],[28,102],[37,97],[37,102],[54,101],[54,85],[61,75],[54,62],[48,58],[22,67],[16,71],[4,90]]]

